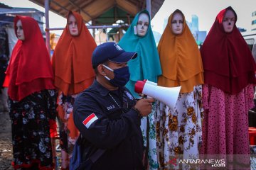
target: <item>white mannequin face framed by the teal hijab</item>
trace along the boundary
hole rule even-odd
[[[139,20],[137,23],[137,34],[141,37],[146,35],[146,31],[149,28],[149,16],[146,13],[141,13],[139,15]]]

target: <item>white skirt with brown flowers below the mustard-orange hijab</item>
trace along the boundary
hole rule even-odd
[[[201,86],[188,94],[179,94],[174,110],[156,102],[156,138],[161,169],[199,169],[178,164],[178,159],[198,159],[202,144]]]

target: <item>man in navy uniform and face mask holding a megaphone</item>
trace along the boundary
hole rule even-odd
[[[102,151],[92,169],[144,169],[140,118],[151,113],[154,99],[136,101],[124,87],[129,80],[127,62],[134,57],[136,52],[125,52],[114,42],[92,53],[96,79],[76,98],[73,116],[84,139],[82,159],[93,160]]]

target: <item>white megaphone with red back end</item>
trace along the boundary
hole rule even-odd
[[[181,91],[181,86],[163,87],[157,86],[157,84],[152,81],[144,80],[135,83],[134,91],[137,94],[151,96],[152,98],[165,103],[169,108],[174,109],[178,94]]]

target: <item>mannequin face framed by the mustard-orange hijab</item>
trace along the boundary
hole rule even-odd
[[[183,22],[181,13],[174,13],[173,18],[171,19],[171,28],[174,34],[178,35],[182,33]]]

